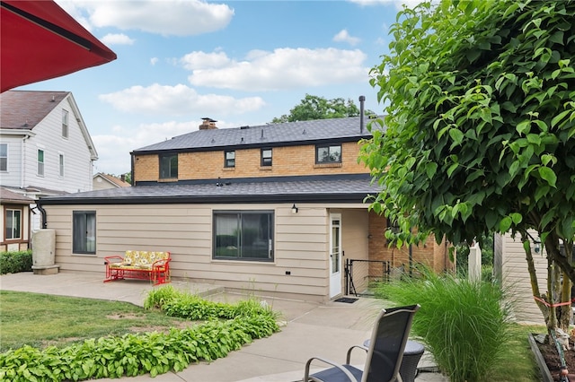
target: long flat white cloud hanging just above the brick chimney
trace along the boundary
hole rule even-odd
[[[121,111],[168,116],[243,114],[259,110],[265,105],[260,97],[235,99],[217,94],[200,95],[182,84],[132,86],[122,91],[102,94],[99,98]]]

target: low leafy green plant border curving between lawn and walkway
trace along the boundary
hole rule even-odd
[[[155,377],[170,370],[181,371],[191,362],[226,357],[228,352],[279,330],[277,314],[259,301],[235,305],[212,302],[172,285],[151,291],[145,308],[170,308],[174,316],[207,321],[186,329],[172,328],[167,334],[110,336],[61,349],[51,346],[39,350],[26,345],[0,354],[0,380],[84,380],[146,373]]]

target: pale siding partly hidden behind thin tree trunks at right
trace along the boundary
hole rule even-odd
[[[535,235],[533,236],[535,237]],[[497,243],[498,239],[495,241]],[[536,254],[533,244],[531,249],[539,289],[542,293],[546,293],[547,256],[544,249]],[[497,252],[498,250],[500,250],[500,253]],[[525,249],[523,248],[521,240],[518,237],[516,239],[511,238],[508,233],[500,239],[500,243],[496,245],[495,251],[495,253],[500,256],[502,285],[511,293],[515,320],[517,320],[517,322],[544,324],[544,317],[541,314],[541,310],[537,308],[533,298],[533,290],[527,270]]]

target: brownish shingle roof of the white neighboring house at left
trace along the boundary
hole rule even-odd
[[[4,91],[0,94],[0,128],[33,129],[69,91]]]

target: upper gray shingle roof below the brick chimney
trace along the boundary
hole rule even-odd
[[[185,135],[174,136],[164,142],[151,144],[134,150],[132,154],[155,152],[193,152],[218,149],[237,150],[265,146],[282,146],[313,143],[341,143],[358,141],[371,137],[367,130],[370,122],[364,117],[315,119],[312,121],[287,122],[262,126],[215,128],[197,130]],[[378,126],[378,125],[374,125]]]

